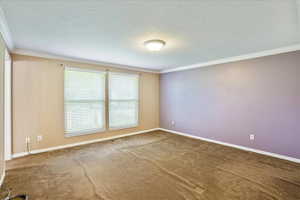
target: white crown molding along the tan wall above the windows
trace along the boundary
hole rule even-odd
[[[83,59],[83,58],[60,56],[60,55],[54,55],[54,54],[49,54],[49,53],[40,52],[40,51],[28,50],[28,49],[16,48],[12,51],[12,53],[19,54],[19,55],[25,55],[25,56],[58,59],[58,60],[62,60],[62,61],[81,62],[81,63],[87,63],[87,64],[93,64],[93,65],[102,65],[102,66],[107,66],[107,67],[114,67],[114,68],[126,69],[126,70],[138,71],[138,72],[159,73],[158,70],[150,70],[150,69],[144,69],[144,68],[139,68],[139,67],[134,67],[134,66],[115,64],[115,63],[107,63],[107,62],[88,60],[88,59]]]

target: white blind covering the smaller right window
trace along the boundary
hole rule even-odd
[[[139,75],[109,73],[109,128],[138,126]]]

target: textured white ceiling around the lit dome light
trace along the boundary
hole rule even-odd
[[[166,70],[297,44],[297,0],[2,0],[16,48]],[[160,52],[143,42],[162,39]]]

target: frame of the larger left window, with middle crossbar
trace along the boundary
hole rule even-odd
[[[99,101],[96,101],[96,100],[76,100],[76,101],[66,101],[65,99],[65,85],[66,85],[66,78],[65,78],[65,73],[66,73],[66,70],[70,70],[70,71],[79,71],[79,72],[93,72],[93,73],[99,73],[99,74],[103,74],[104,75],[104,90],[103,90],[103,96],[104,96],[104,99],[101,100],[101,102],[103,103],[103,128],[97,128],[97,129],[85,129],[85,130],[80,130],[80,131],[73,131],[73,132],[67,132],[66,131],[66,117],[65,117],[65,114],[66,114],[66,102],[74,102],[74,103],[84,103],[84,102],[99,102]],[[106,104],[107,104],[107,72],[105,70],[96,70],[96,69],[83,69],[83,68],[80,68],[80,67],[72,67],[72,66],[64,66],[63,68],[63,71],[64,71],[64,86],[63,86],[63,98],[64,98],[64,137],[68,138],[68,137],[74,137],[74,136],[82,136],[82,135],[90,135],[90,134],[96,134],[96,133],[101,133],[101,132],[105,132],[107,130],[107,108],[106,108]]]

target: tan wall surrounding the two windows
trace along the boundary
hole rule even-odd
[[[141,73],[140,123],[137,128],[91,135],[64,137],[64,71],[61,64],[90,69],[110,69],[98,65],[13,55],[13,153],[42,149],[159,127],[159,75]],[[122,70],[124,71],[124,70]],[[37,135],[43,140],[37,142]]]

